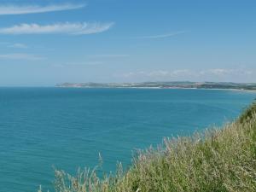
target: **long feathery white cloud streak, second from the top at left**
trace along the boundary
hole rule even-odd
[[[0,28],[0,34],[22,35],[22,34],[69,34],[86,35],[108,31],[113,26],[113,22],[108,23],[56,23],[41,26],[38,24],[20,24],[6,28]]]

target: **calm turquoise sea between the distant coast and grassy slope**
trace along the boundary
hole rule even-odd
[[[222,125],[256,93],[232,90],[0,88],[0,191],[51,189],[52,166],[74,172]]]

